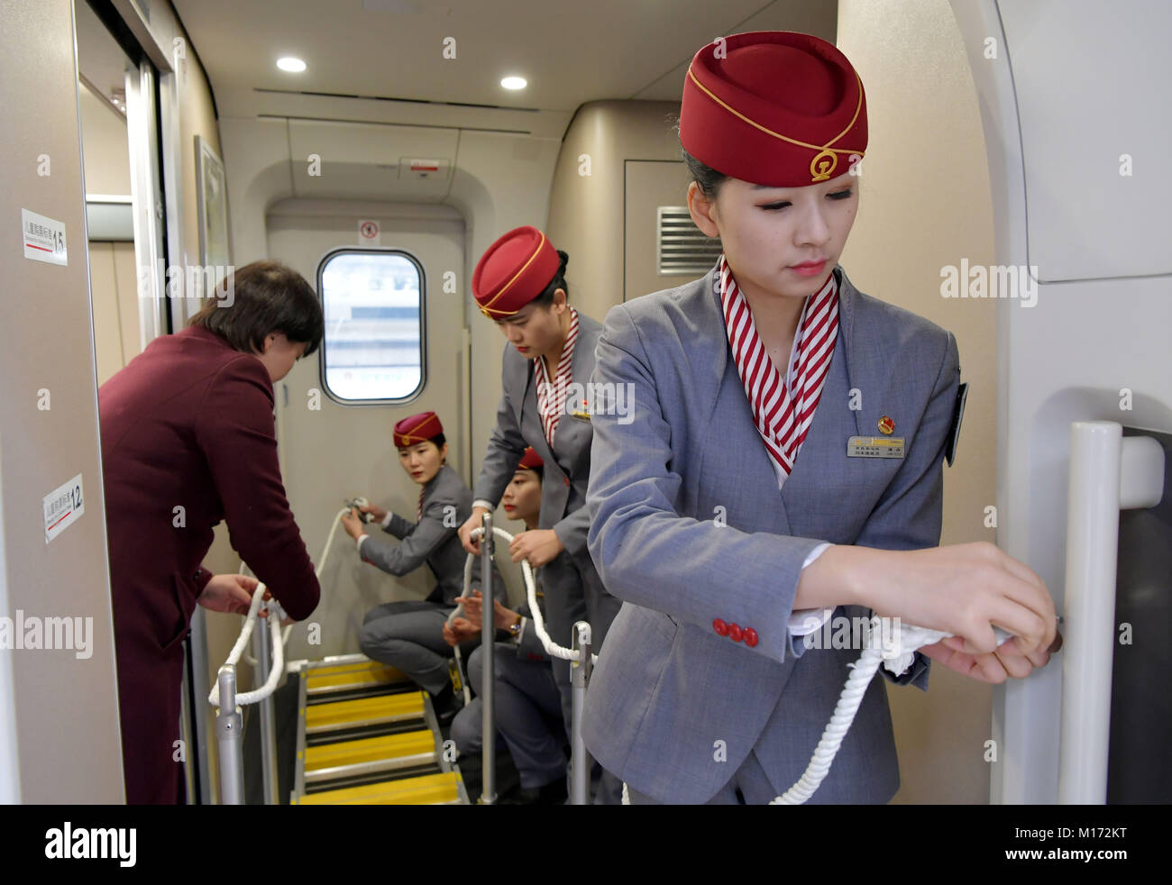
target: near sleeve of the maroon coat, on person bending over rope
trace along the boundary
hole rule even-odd
[[[308,618],[321,588],[285,497],[273,388],[259,360],[241,355],[217,373],[195,429],[232,546],[291,618]]]

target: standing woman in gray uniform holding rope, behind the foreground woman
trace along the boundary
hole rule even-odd
[[[584,395],[594,370],[594,347],[602,327],[568,302],[568,256],[537,227],[524,226],[497,239],[476,265],[472,294],[481,312],[507,339],[502,356],[497,426],[476,483],[472,517],[459,530],[468,551],[478,551],[471,532],[492,511],[512,479],[526,445],[545,462],[540,529],[517,538],[513,561],[543,569],[550,635],[568,646],[573,624],[584,617],[594,647],[604,647],[619,600],[598,577],[586,549],[591,478],[591,408]],[[553,661],[567,729],[572,721],[570,663]],[[621,787],[604,780],[599,802],[618,802]]]

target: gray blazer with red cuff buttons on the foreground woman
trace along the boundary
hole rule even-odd
[[[606,318],[594,380],[631,384],[634,417],[594,416],[588,545],[624,605],[587,692],[585,736],[604,768],[661,802],[709,799],[750,751],[778,794],[805,770],[860,653],[806,648],[786,627],[818,543],[914,550],[940,539],[955,340],[834,272],[836,350],[781,491],[714,272]],[[849,408],[852,389],[859,410]],[[884,415],[906,457],[849,458],[847,437],[878,436]],[[834,612],[844,614],[870,613]],[[716,619],[751,627],[757,645],[718,635]],[[919,654],[904,676],[888,675],[924,689],[927,676]],[[874,680],[811,802],[886,802],[898,788],[887,697]]]

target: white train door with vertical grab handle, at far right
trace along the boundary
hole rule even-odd
[[[992,797],[1168,802],[1172,710],[1153,674],[1172,666],[1172,118],[1146,84],[1172,77],[1172,8],[953,12],[997,263],[1016,268],[999,293],[997,540],[1045,580],[1067,636],[1049,667],[994,694]]]

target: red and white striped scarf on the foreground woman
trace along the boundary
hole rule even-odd
[[[757,433],[770,457],[789,476],[813,422],[813,411],[818,407],[822,388],[826,384],[830,359],[834,353],[834,341],[838,338],[838,281],[831,273],[826,285],[808,297],[805,320],[798,333],[793,358],[793,389],[790,390],[783,374],[789,366],[778,370],[765,353],[765,346],[752,322],[749,302],[737,288],[723,254],[716,271],[721,284],[724,329],[737,373],[752,407]]]

